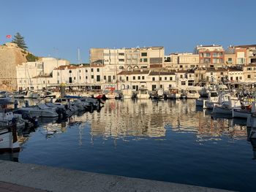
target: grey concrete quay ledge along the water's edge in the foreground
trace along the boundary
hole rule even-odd
[[[45,191],[224,191],[11,161],[0,166],[0,181]]]

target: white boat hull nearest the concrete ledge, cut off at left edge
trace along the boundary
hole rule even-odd
[[[0,151],[1,152],[18,152],[20,145],[18,143],[17,131],[15,124],[10,126],[1,126],[0,128]]]

